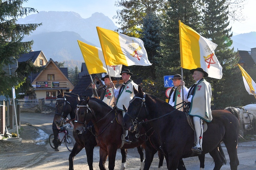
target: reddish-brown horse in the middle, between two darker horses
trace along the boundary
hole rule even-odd
[[[123,135],[123,127],[118,123],[115,110],[110,108],[104,102],[96,98],[87,98],[86,100],[77,97],[76,118],[74,131],[79,134],[86,126],[88,121],[92,121],[95,127],[95,137],[100,146],[99,168],[105,168],[106,158],[109,157],[109,169],[115,167],[116,151],[122,146],[121,137]],[[124,144],[122,148],[135,148],[143,144],[140,140],[136,143]],[[146,164],[146,163],[145,163]]]

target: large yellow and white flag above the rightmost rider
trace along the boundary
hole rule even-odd
[[[217,44],[202,37],[180,20],[179,27],[181,67],[186,69],[201,67],[208,73],[208,77],[221,79],[222,66],[214,54]]]

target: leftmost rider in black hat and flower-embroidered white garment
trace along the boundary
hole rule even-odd
[[[105,86],[99,89],[96,88],[96,91],[100,96],[100,100],[102,100],[104,103],[106,103],[107,105],[113,108],[115,103],[114,87],[110,86],[109,75],[105,75],[105,77],[102,77],[101,80],[104,81]],[[111,80],[114,81],[115,78],[111,77]],[[95,84],[91,84],[91,87],[92,87],[93,94],[97,96],[95,92]]]

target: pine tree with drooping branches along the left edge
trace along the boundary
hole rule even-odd
[[[22,4],[26,0],[1,0],[0,1],[0,95],[10,95],[12,86],[20,87],[26,82],[26,77],[18,73],[16,76],[5,76],[2,68],[12,63],[11,57],[28,52],[33,41],[22,42],[24,35],[29,35],[41,24],[16,24],[19,17],[31,12],[37,12],[33,8],[24,8]],[[18,84],[17,84],[18,82]]]

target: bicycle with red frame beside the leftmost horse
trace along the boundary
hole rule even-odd
[[[59,134],[64,133],[64,136],[63,136],[62,140],[60,140],[60,137],[58,134],[58,144],[60,146],[61,143],[66,143],[68,150],[71,152],[74,147],[74,138],[69,135],[68,129],[66,127],[67,126],[60,127]],[[71,126],[69,126],[69,127],[71,127]],[[51,134],[49,136],[49,143],[50,143],[51,147],[54,149],[53,140],[54,140],[54,135]]]

